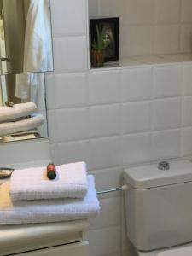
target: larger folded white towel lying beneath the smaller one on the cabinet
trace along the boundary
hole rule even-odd
[[[84,199],[11,201],[10,183],[0,187],[0,224],[46,223],[84,219],[100,211],[93,176],[88,176],[88,192]]]

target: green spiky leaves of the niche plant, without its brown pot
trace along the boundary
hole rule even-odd
[[[96,26],[96,39],[92,44],[92,49],[97,51],[102,51],[106,49],[109,44],[110,44],[110,41],[106,40],[104,29],[102,29],[102,31],[100,32],[99,27]]]

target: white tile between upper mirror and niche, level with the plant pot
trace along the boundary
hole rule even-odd
[[[88,69],[85,37],[54,38],[53,44],[55,73]]]

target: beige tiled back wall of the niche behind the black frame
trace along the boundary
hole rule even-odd
[[[191,0],[89,0],[90,18],[119,16],[120,55],[192,50]]]

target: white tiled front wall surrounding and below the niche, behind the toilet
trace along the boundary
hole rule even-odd
[[[121,10],[119,0],[102,3],[106,11],[115,3]],[[140,1],[130,3],[139,19],[154,19],[154,0],[145,1],[142,15]],[[86,0],[51,0],[51,7],[55,72],[46,75],[46,87],[53,160],[86,161],[102,190],[120,186],[123,166],[192,155],[192,63],[89,71]],[[101,215],[90,222],[90,256],[132,256],[121,193],[100,200]]]

